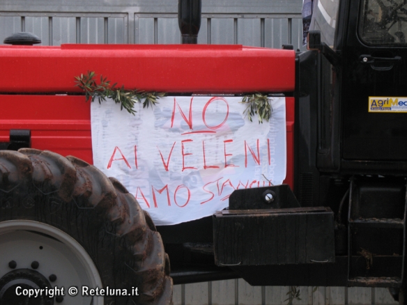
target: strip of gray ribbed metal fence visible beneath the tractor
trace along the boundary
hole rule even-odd
[[[278,276],[278,275],[275,275]],[[293,275],[295,276],[295,275]],[[299,287],[294,305],[396,305],[386,288]],[[243,279],[174,286],[174,305],[286,305],[289,287],[252,287]]]

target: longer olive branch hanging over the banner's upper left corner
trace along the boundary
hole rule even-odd
[[[143,103],[143,108],[148,106],[153,107],[158,103],[158,99],[163,97],[165,93],[146,92],[125,89],[124,86],[116,87],[116,84],[111,85],[107,78],[100,75],[100,83],[97,84],[95,79],[95,72],[88,71],[86,75],[81,74],[75,77],[75,86],[78,86],[85,91],[86,102],[90,99],[92,102],[98,98],[99,104],[105,101],[106,98],[111,98],[116,104],[121,104],[121,110],[126,109],[129,114],[135,115],[135,104],[137,102]],[[144,101],[143,101],[144,100]]]

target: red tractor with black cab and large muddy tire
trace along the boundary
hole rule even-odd
[[[191,6],[185,8],[186,3]],[[199,7],[199,1],[180,2],[185,43],[196,42]],[[404,304],[406,12],[407,4],[399,0],[320,0],[314,3],[307,52],[289,45],[35,47],[24,37],[1,46],[0,258],[5,265],[0,267],[0,304],[79,304],[75,289],[67,291],[75,286],[80,304],[171,304],[169,258],[174,283],[243,277],[262,286],[387,287]],[[91,82],[93,71],[118,86],[99,86],[103,79]],[[140,134],[129,146],[131,157],[119,145],[100,143],[107,135],[94,129],[86,98],[103,99],[107,88],[119,95],[130,94],[124,88],[165,93],[171,100],[167,112],[151,111],[156,118],[160,112],[160,120],[151,123],[138,115],[146,110],[139,108],[132,128],[150,123],[151,130],[161,123],[160,128],[173,128],[178,116],[178,132],[191,137],[173,145],[169,132],[159,138],[153,132]],[[132,94],[136,103],[138,93]],[[240,116],[232,115],[229,106],[233,98],[247,102],[250,96],[244,124],[252,133],[243,141],[229,123],[238,124]],[[187,100],[186,108],[181,100]],[[270,126],[279,112],[272,109],[269,118],[259,105],[263,101],[272,108],[273,100],[284,106],[282,185],[264,174],[270,173]],[[103,110],[111,102],[97,105],[105,111],[100,124],[115,120],[128,129],[122,115],[131,114],[117,111],[112,119],[114,111]],[[217,110],[206,112],[215,104],[227,106],[223,123]],[[192,105],[201,107],[206,130],[192,127],[192,120],[197,122]],[[264,138],[257,125],[270,128]],[[202,171],[193,163],[199,159],[192,148],[197,132],[218,132],[217,138],[199,142]],[[222,138],[222,132],[236,137]],[[91,165],[97,163],[97,136],[102,139],[98,150],[112,146],[103,169]],[[114,136],[125,139],[118,129]],[[118,180],[102,173],[114,166],[139,170],[141,136],[155,141],[158,156],[157,163],[143,164],[146,172],[161,175],[160,164],[170,182],[185,174],[178,187],[171,189],[168,182],[143,188],[137,173],[132,179],[118,174]],[[261,168],[254,175],[263,175],[262,180],[208,184],[202,173],[222,166],[208,161],[205,145],[221,138],[217,149],[223,168],[238,175],[251,162],[253,171]],[[245,166],[237,165],[230,150],[239,139]],[[171,172],[173,151],[181,167]],[[194,170],[199,175],[186,175]],[[193,221],[171,222],[169,207],[192,202],[192,185],[199,179],[206,192],[197,199],[198,208],[210,196],[228,207]],[[128,185],[135,185],[133,191]],[[221,196],[224,189],[230,191],[227,196]],[[168,209],[169,221],[150,216],[160,206]],[[35,299],[30,292],[42,294]]]

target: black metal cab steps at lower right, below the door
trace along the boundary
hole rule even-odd
[[[348,286],[399,288],[402,284],[404,251],[401,250],[402,254],[398,251],[397,258],[390,256],[394,249],[405,249],[405,238],[395,242],[395,246],[392,244],[394,249],[390,253],[381,251],[381,255],[376,256],[369,252],[374,251],[369,250],[369,247],[376,247],[375,240],[383,242],[394,235],[402,237],[406,226],[406,180],[382,179],[356,177],[351,180],[348,204]],[[376,218],[376,215],[383,218]],[[378,232],[383,238],[374,236]],[[352,257],[352,253],[359,249],[361,252],[364,249],[369,252],[358,252],[366,260],[363,270],[360,269],[362,262],[355,263]],[[373,260],[375,265],[371,267]],[[386,267],[386,261],[396,265]]]

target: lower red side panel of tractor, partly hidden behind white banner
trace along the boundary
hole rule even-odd
[[[92,164],[91,107],[83,95],[0,95],[0,104],[0,141],[10,140],[10,129],[31,130],[32,148],[74,155]],[[284,183],[291,188],[293,127],[294,98],[286,97],[287,174]]]

